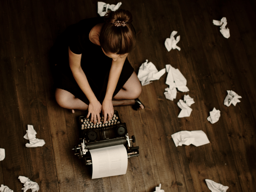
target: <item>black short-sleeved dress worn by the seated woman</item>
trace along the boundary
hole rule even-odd
[[[89,39],[91,29],[103,23],[103,17],[84,19],[69,26],[56,40],[50,51],[50,63],[56,88],[64,89],[89,105],[71,72],[68,62],[68,46],[73,53],[81,54],[81,67],[96,98],[102,103],[105,98],[112,59],[104,54],[101,47]],[[134,69],[126,58],[113,97],[124,86]]]

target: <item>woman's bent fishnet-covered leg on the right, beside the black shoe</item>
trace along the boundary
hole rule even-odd
[[[126,81],[123,88],[114,96],[112,100],[113,106],[119,105],[134,105],[142,91],[140,80],[135,72],[132,73],[130,78]],[[141,104],[140,108],[144,106]]]

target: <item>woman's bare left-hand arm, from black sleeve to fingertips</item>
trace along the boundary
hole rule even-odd
[[[97,122],[100,123],[100,111],[101,111],[101,104],[97,100],[96,96],[92,92],[92,89],[88,83],[88,80],[84,74],[84,71],[81,67],[81,58],[82,54],[75,54],[73,53],[68,47],[68,57],[69,57],[69,66],[71,68],[72,74],[76,80],[76,83],[80,87],[80,89],[84,92],[85,96],[89,100],[88,106],[88,115],[87,118],[91,116],[91,121],[94,124]]]

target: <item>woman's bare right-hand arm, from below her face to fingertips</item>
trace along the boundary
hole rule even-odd
[[[107,120],[107,115],[108,115],[108,120],[111,119],[114,115],[112,98],[113,98],[113,94],[116,89],[116,85],[119,80],[120,74],[122,72],[126,57],[127,56],[125,56],[124,58],[118,58],[116,61],[112,60],[112,65],[111,65],[109,77],[108,77],[107,92],[102,102],[102,112],[104,114],[104,123]]]

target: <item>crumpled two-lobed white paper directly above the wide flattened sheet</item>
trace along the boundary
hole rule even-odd
[[[195,103],[194,99],[189,97],[189,95],[184,95],[184,101],[180,99],[177,103],[179,108],[181,108],[181,111],[180,111],[180,114],[178,115],[178,117],[179,118],[189,117],[192,112],[192,109],[190,108],[190,106],[193,103]]]

